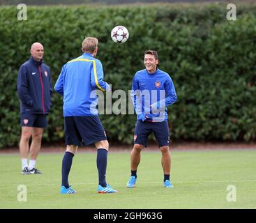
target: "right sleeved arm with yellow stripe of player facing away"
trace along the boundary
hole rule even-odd
[[[92,63],[91,68],[91,85],[100,89],[101,91],[110,91],[110,85],[103,81],[104,73],[103,66],[99,60]]]

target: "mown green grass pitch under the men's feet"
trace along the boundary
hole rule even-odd
[[[163,187],[159,151],[142,151],[134,189],[126,188],[130,153],[110,151],[107,182],[119,193],[98,194],[96,151],[78,151],[69,178],[77,194],[66,195],[59,194],[63,153],[40,153],[37,167],[42,175],[22,175],[19,154],[1,154],[0,208],[256,208],[255,150],[171,153],[174,189]],[[19,185],[27,187],[27,201],[17,201]],[[232,191],[229,185],[234,185]],[[227,201],[229,192],[233,201]]]

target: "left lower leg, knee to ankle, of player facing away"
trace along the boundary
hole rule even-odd
[[[77,151],[77,147],[78,146],[68,145],[66,148],[66,153],[63,155],[61,168],[61,186],[66,187],[66,189],[70,187],[68,183],[68,175],[72,166],[73,157]]]

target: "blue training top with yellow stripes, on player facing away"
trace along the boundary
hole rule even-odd
[[[110,90],[103,76],[101,62],[89,53],[68,61],[54,86],[63,95],[63,116],[98,115],[98,96],[93,90]]]

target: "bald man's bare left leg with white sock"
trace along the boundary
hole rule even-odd
[[[22,136],[20,137],[20,156],[22,157],[22,170],[28,167],[27,156],[29,154],[29,139],[32,134],[32,127],[22,126]]]

